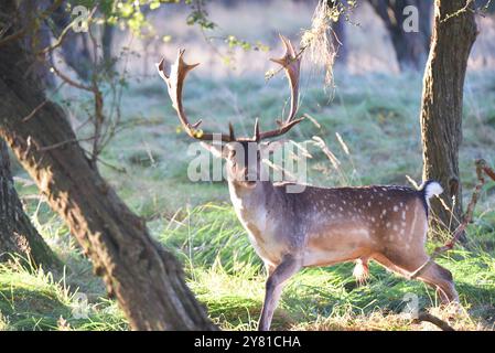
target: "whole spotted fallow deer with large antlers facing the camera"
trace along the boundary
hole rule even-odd
[[[435,181],[427,181],[419,190],[405,186],[314,188],[301,193],[287,192],[287,184],[275,184],[259,178],[261,140],[276,138],[302,121],[295,118],[300,55],[290,41],[281,36],[286,53],[272,60],[282,65],[291,87],[291,108],[284,121],[270,131],[260,131],[258,119],[251,138],[219,133],[220,146],[204,143],[213,153],[226,159],[232,203],[249,240],[268,270],[265,302],[258,323],[269,330],[283,284],[297,271],[311,266],[330,266],[356,261],[354,274],[368,272],[370,259],[387,269],[410,277],[430,258],[424,250],[428,231],[429,200],[442,192]],[[213,133],[191,124],[182,104],[186,74],[198,64],[189,65],[180,50],[170,74],[164,60],[157,64],[179,120],[194,139],[212,142]],[[257,157],[248,156],[255,143]],[[237,148],[237,146],[243,148]],[[244,152],[239,152],[244,151]],[[458,300],[451,272],[431,261],[418,279],[437,289],[443,302]]]

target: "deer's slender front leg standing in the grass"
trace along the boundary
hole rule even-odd
[[[258,322],[259,331],[268,331],[270,329],[271,319],[273,318],[275,309],[282,293],[283,284],[300,268],[301,260],[295,259],[292,255],[286,255],[273,270],[269,270],[263,308]]]

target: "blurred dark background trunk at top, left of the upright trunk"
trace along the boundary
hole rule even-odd
[[[431,2],[426,0],[368,0],[384,21],[401,71],[420,69],[427,58],[430,43]],[[419,13],[419,31],[406,32],[403,9],[413,6]]]

